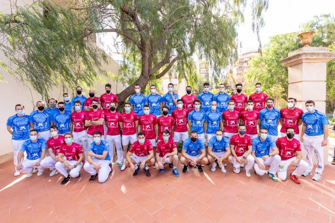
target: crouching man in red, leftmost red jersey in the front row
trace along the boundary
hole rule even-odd
[[[49,151],[49,156],[45,157],[40,165],[43,168],[52,169],[50,176],[54,176],[57,172],[55,164],[57,162],[57,155],[60,151],[61,146],[65,145],[64,136],[58,134],[57,126],[50,127],[50,133],[52,137],[47,141],[47,148]]]

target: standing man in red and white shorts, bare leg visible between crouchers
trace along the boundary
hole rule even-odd
[[[139,117],[131,110],[130,102],[124,104],[124,113],[120,117],[120,128],[122,129],[122,146],[123,146],[123,165],[121,170],[126,168],[125,160],[129,142],[136,142],[136,129],[139,126]]]

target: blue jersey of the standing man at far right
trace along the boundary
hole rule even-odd
[[[315,110],[314,113],[304,113],[302,119],[306,125],[305,134],[309,136],[323,135],[323,126],[329,125],[325,114],[318,110]]]

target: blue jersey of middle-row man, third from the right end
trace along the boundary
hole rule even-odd
[[[269,135],[278,135],[277,121],[280,120],[280,111],[273,107],[272,110],[264,107],[259,111],[261,128],[267,128]]]

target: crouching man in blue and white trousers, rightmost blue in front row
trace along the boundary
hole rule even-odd
[[[268,137],[266,128],[260,128],[259,133],[260,136],[252,140],[251,154],[255,159],[254,169],[258,175],[262,176],[265,173],[265,166],[270,166],[267,176],[277,182],[275,174],[281,161],[278,148],[271,137]]]

